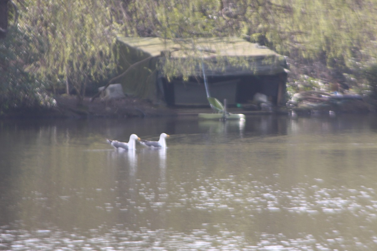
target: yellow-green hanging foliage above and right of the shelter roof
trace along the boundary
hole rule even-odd
[[[374,0],[129,2],[130,20],[139,25],[126,24],[127,35],[244,36],[296,62],[321,61],[343,73],[350,71],[349,59],[366,62],[377,53]],[[193,70],[190,64],[182,68]]]

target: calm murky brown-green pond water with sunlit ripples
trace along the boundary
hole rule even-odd
[[[377,250],[376,160],[375,114],[0,121],[0,250]]]

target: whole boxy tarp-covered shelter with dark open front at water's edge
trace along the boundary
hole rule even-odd
[[[117,43],[122,70],[133,65],[120,82],[126,94],[167,105],[208,105],[204,71],[210,96],[227,99],[227,105],[247,103],[256,93],[274,105],[285,104],[285,58],[258,44],[241,38],[156,37],[118,37]],[[169,67],[176,68],[171,70],[178,71],[170,81],[161,72],[167,55]],[[194,69],[188,81],[179,76],[185,60]]]

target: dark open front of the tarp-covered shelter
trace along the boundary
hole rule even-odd
[[[286,73],[207,77],[210,96],[216,97],[221,102],[226,98],[229,106],[236,106],[237,103],[249,103],[256,93],[267,95],[274,105],[279,105],[279,95],[285,93],[286,81]],[[186,82],[179,78],[173,79],[171,82],[162,79],[162,82],[168,105],[208,105],[202,78],[192,77]]]

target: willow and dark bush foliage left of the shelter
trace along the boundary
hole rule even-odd
[[[19,23],[1,41],[0,111],[53,105],[46,90],[56,92],[66,83],[81,96],[87,84],[115,73],[113,42],[120,25],[114,6],[100,0],[29,0],[21,7]]]

